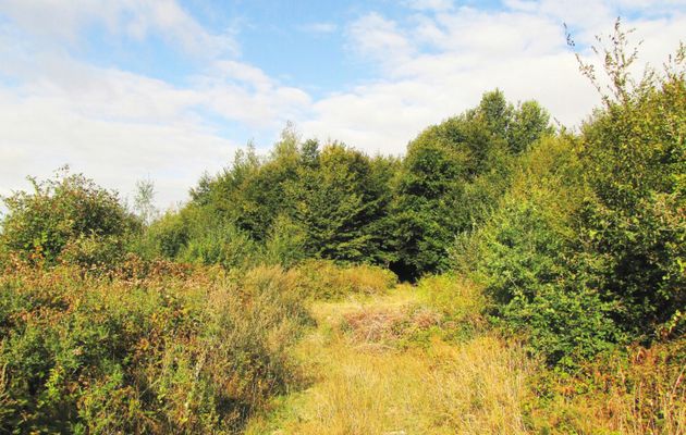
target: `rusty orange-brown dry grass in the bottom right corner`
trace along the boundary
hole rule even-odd
[[[550,434],[686,434],[686,339],[637,347],[589,363],[576,376],[541,372],[549,401],[532,425]]]

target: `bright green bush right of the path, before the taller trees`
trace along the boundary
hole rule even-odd
[[[477,276],[490,314],[550,364],[572,368],[620,339],[611,306],[576,281],[567,239],[546,221],[540,203],[504,206],[479,236]]]

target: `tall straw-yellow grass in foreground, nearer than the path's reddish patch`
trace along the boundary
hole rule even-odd
[[[493,338],[430,351],[358,352],[334,344],[327,375],[295,405],[289,434],[526,433],[526,358]]]

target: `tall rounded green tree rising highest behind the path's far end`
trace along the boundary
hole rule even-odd
[[[446,270],[455,236],[478,226],[507,190],[515,156],[550,134],[537,102],[515,108],[500,90],[422,132],[408,147],[393,208],[401,274]]]

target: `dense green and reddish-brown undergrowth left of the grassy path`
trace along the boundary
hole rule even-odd
[[[235,433],[297,382],[294,272],[74,272],[0,277],[0,432]]]

